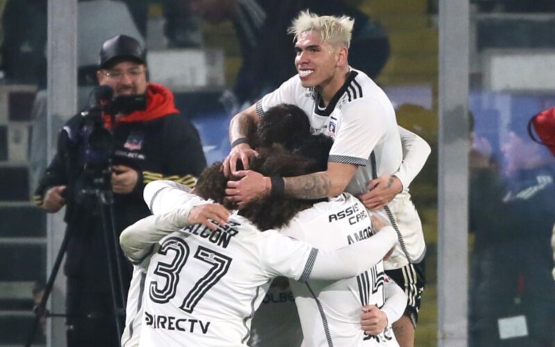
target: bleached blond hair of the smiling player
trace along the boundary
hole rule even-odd
[[[294,34],[293,40],[296,42],[301,33],[316,31],[320,33],[322,41],[334,46],[339,44],[349,48],[354,24],[355,19],[348,16],[318,16],[309,10],[304,10],[293,19],[287,33]]]

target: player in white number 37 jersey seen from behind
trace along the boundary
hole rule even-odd
[[[272,167],[276,159],[278,155],[260,157],[266,168]],[[302,158],[294,162],[289,171],[302,169],[306,161]],[[200,196],[208,194],[222,201],[226,181],[221,167],[213,166],[200,176],[196,189]],[[174,189],[161,187],[163,184],[155,182],[145,189],[155,214],[157,203],[168,209],[174,205],[166,196]],[[211,232],[198,224],[187,226],[187,212],[206,203],[199,196],[189,197],[189,203],[147,217],[121,236],[124,252],[135,261],[152,251],[156,239],[162,239],[151,255],[146,276],[141,345],[245,346],[250,319],[272,278],[350,278],[379,262],[395,242],[391,227],[336,251],[318,251],[275,230],[260,232],[269,223],[284,225],[299,208],[311,205],[285,198],[246,205],[239,212],[244,216],[234,211],[228,223],[218,223],[216,231]]]

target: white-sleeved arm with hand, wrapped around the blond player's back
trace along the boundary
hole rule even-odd
[[[432,152],[425,139],[401,126],[398,128],[403,148],[401,166],[392,175],[384,175],[371,180],[367,185],[370,191],[357,196],[370,210],[384,207],[403,189],[408,189]]]

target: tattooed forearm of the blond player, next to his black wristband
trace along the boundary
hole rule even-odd
[[[326,198],[330,196],[331,182],[325,172],[284,178],[285,195],[296,198]]]

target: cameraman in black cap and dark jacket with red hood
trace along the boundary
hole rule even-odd
[[[103,110],[112,106],[114,115],[99,114],[99,129],[94,131],[110,130],[113,142],[106,150],[111,174],[108,171],[105,181],[114,193],[118,236],[126,226],[150,214],[142,199],[146,183],[169,179],[194,186],[206,166],[196,128],[176,110],[166,87],[148,83],[146,70],[144,50],[133,37],[117,35],[104,42],[96,76],[99,85],[112,88],[113,101],[109,96],[99,99]],[[146,102],[142,107],[119,102],[126,96]],[[114,111],[116,105],[121,107]],[[112,249],[105,245],[98,199],[79,194],[91,176],[85,169],[88,139],[92,138],[87,137],[86,124],[80,113],[60,131],[58,151],[40,180],[35,202],[51,213],[67,204],[65,221],[67,231],[72,232],[65,263],[68,346],[119,346],[108,276],[107,252]],[[123,264],[127,292],[130,268],[127,262]]]

